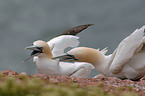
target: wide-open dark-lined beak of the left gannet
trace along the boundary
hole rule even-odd
[[[33,46],[28,46],[25,48],[25,50],[27,50],[27,49],[33,50],[33,51],[31,53],[31,55],[27,59],[25,59],[23,62],[26,62],[27,60],[31,59],[32,57],[38,56],[39,54],[43,53],[42,52],[43,47],[37,47],[37,46],[33,45]]]

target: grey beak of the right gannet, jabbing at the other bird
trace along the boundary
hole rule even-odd
[[[58,56],[58,57],[54,57],[52,59],[59,59],[59,61],[63,61],[63,62],[79,61],[78,59],[75,58],[74,55],[70,55],[68,53],[66,53],[65,55],[61,55],[61,56]]]

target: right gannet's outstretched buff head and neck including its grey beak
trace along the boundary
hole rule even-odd
[[[60,61],[79,61],[88,62],[91,64],[97,64],[102,62],[104,54],[99,50],[87,47],[77,47],[68,51],[65,55],[54,57],[53,59],[59,59]]]

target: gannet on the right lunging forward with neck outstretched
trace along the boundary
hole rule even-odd
[[[144,30],[145,26],[136,29],[110,55],[93,48],[77,47],[54,59],[88,62],[104,76],[137,81],[145,75]]]

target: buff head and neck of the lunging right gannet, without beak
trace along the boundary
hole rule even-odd
[[[68,53],[74,55],[79,61],[91,63],[95,67],[103,64],[105,59],[105,55],[101,51],[87,47],[77,47]]]

